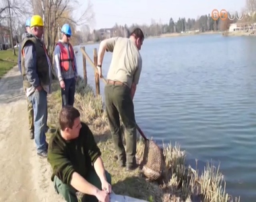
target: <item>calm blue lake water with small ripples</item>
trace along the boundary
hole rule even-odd
[[[98,44],[86,46],[90,57],[93,48]],[[141,56],[134,99],[138,125],[159,142],[177,141],[188,160],[220,162],[228,193],[255,201],[256,38],[216,34],[147,39]],[[77,57],[83,75],[82,54]],[[105,76],[110,59],[106,53]],[[87,69],[94,86],[92,67]]]

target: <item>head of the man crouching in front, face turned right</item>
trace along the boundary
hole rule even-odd
[[[59,125],[66,140],[77,138],[82,127],[79,111],[73,106],[63,106],[59,114]]]

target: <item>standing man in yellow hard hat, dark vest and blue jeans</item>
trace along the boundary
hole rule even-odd
[[[51,60],[41,40],[44,23],[40,15],[32,16],[30,28],[30,34],[26,35],[21,45],[23,84],[34,110],[34,139],[37,154],[46,158],[47,94],[51,93],[53,71]]]

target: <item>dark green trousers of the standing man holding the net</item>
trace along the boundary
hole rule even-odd
[[[107,84],[104,88],[106,114],[119,163],[133,166],[136,163],[136,127],[131,90],[127,86]],[[120,117],[125,128],[126,153],[123,145]]]

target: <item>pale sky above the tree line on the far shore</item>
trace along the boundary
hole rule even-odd
[[[83,7],[87,3],[84,0]],[[245,0],[91,0],[95,13],[94,29],[112,28],[115,24],[131,26],[151,24],[151,20],[166,24],[170,18],[197,18],[212,13],[213,9],[241,11]],[[77,12],[79,13],[79,12]]]

